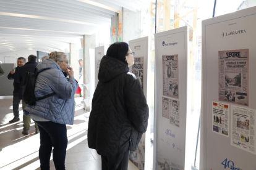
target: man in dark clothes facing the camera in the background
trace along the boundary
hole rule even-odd
[[[9,75],[7,76],[8,79],[14,79],[15,71],[18,70],[19,67],[22,67],[25,65],[26,59],[24,57],[19,57],[17,60],[17,67],[15,70],[10,71]],[[20,83],[17,83],[14,81],[14,92],[13,92],[13,100],[12,100],[12,110],[14,111],[14,118],[9,121],[9,123],[14,123],[16,121],[20,121],[20,114],[19,114],[19,104],[20,104],[20,98],[19,98],[19,88]]]

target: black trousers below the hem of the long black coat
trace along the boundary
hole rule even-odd
[[[102,156],[101,155],[101,169],[102,170],[127,170],[129,162],[130,150],[119,155]]]

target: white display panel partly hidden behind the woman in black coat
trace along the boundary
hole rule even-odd
[[[147,79],[148,79],[148,37],[129,41],[129,47],[135,52],[134,65],[130,71],[140,81],[143,92],[147,99]],[[147,99],[148,101],[148,99]],[[147,132],[143,134],[136,152],[130,152],[129,160],[137,167],[135,169],[150,169],[150,118],[148,119]],[[132,170],[135,170],[132,169]]]

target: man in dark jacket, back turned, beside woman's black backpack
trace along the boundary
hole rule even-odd
[[[37,64],[38,63],[36,63],[36,56],[35,55],[29,55],[28,56],[28,62],[25,63],[25,65],[23,65],[22,67],[20,67],[14,75],[14,81],[17,82],[17,83],[20,83],[20,87],[19,87],[19,98],[20,99],[22,99],[22,85],[24,83],[25,73],[26,72],[34,73]],[[26,103],[23,102],[23,100],[22,100],[22,109],[24,110],[24,108],[26,106],[27,106]],[[23,115],[23,131],[22,131],[22,134],[28,135],[28,131],[30,129],[30,122],[31,122],[30,116]],[[38,126],[37,126],[36,123],[35,123],[35,128],[36,128],[36,134],[38,134],[39,130],[38,130]]]

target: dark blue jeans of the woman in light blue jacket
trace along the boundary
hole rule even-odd
[[[53,148],[53,162],[56,169],[65,169],[67,149],[66,124],[52,121],[35,121],[40,131],[39,160],[41,170],[49,170],[51,149]]]

